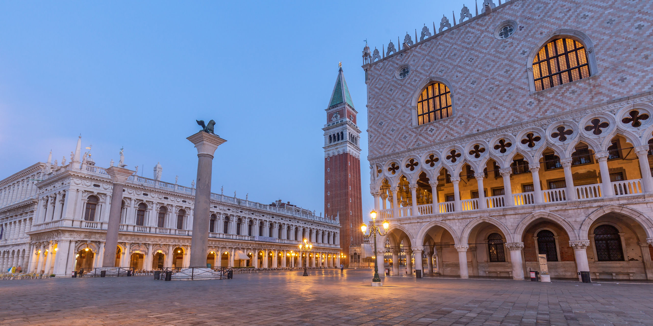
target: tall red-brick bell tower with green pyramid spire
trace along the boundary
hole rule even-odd
[[[347,82],[338,70],[327,106],[325,131],[325,214],[340,220],[340,248],[347,255],[342,263],[349,265],[349,246],[361,244],[362,202],[360,186],[360,129],[358,112],[349,95]]]

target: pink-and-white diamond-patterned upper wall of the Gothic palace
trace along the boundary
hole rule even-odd
[[[406,149],[426,149],[653,90],[650,61],[645,59],[653,45],[646,36],[653,21],[643,14],[652,9],[650,1],[513,0],[372,63],[367,67],[368,124],[375,128],[369,132],[368,158],[380,162]],[[506,20],[515,20],[517,31],[505,40],[492,37]],[[591,40],[584,46],[594,52],[597,71],[535,93],[528,58],[561,29]],[[395,78],[405,65],[411,73]],[[415,127],[413,103],[432,81],[449,85],[453,117]],[[397,131],[389,132],[392,128]]]

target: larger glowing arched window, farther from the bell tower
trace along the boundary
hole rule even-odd
[[[542,91],[590,76],[585,48],[571,38],[558,38],[545,45],[533,60],[535,91]]]

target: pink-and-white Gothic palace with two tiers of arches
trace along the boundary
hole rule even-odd
[[[366,46],[379,263],[653,280],[652,10],[485,0]]]

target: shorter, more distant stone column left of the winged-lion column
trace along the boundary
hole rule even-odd
[[[106,224],[106,250],[104,253],[98,252],[97,254],[103,255],[102,267],[115,267],[116,265],[116,248],[118,248],[118,229],[120,228],[120,215],[122,210],[122,194],[123,187],[127,178],[134,173],[134,171],[125,168],[118,168],[118,166],[111,166],[106,168],[106,174],[111,177],[111,182],[114,184],[114,189],[111,194],[111,207],[109,209],[109,221]]]

